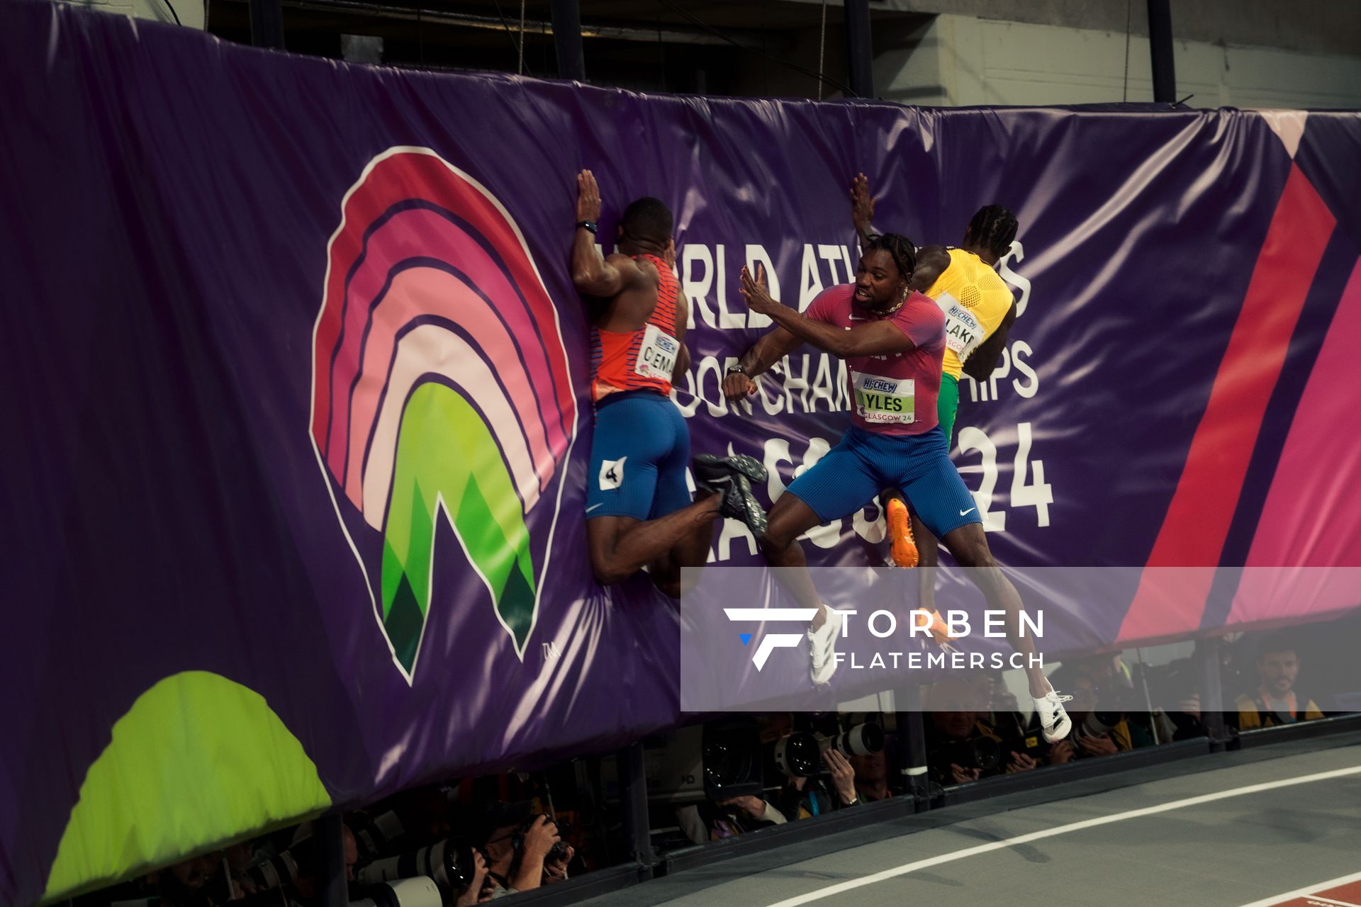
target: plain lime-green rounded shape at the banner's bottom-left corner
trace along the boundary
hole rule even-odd
[[[260,694],[204,670],[171,674],[113,725],[80,785],[42,899],[329,805],[317,767]]]

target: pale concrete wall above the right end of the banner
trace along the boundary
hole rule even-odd
[[[1153,101],[1149,41],[1123,31],[939,15],[881,29],[875,48],[875,91],[900,103]],[[1175,41],[1173,56],[1194,107],[1361,109],[1358,57],[1199,41]]]

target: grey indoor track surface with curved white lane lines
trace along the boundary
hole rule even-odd
[[[961,820],[945,827],[885,823],[583,903],[1361,907],[1361,745],[1319,747],[1037,805],[951,808]]]

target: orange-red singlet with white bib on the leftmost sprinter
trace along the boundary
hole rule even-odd
[[[676,364],[680,343],[672,336],[676,324],[676,298],[680,283],[670,265],[657,256],[646,258],[657,269],[657,305],[646,324],[637,330],[618,333],[591,329],[591,400],[599,403],[621,390],[656,390],[671,396],[671,370]]]

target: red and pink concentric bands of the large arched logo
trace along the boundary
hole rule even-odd
[[[404,203],[423,207],[393,211]],[[393,148],[374,158],[342,211],[313,337],[312,435],[346,496],[363,507],[363,446],[378,417],[397,332],[412,318],[440,314],[495,363],[517,401],[539,483],[531,494],[536,499],[569,446],[577,409],[557,309],[509,215],[482,186],[425,148]],[[374,228],[384,216],[387,222]],[[396,305],[381,299],[374,305],[389,272],[406,258],[446,262],[480,295],[467,287],[446,299],[403,292],[391,301]],[[430,310],[423,310],[426,305]]]

